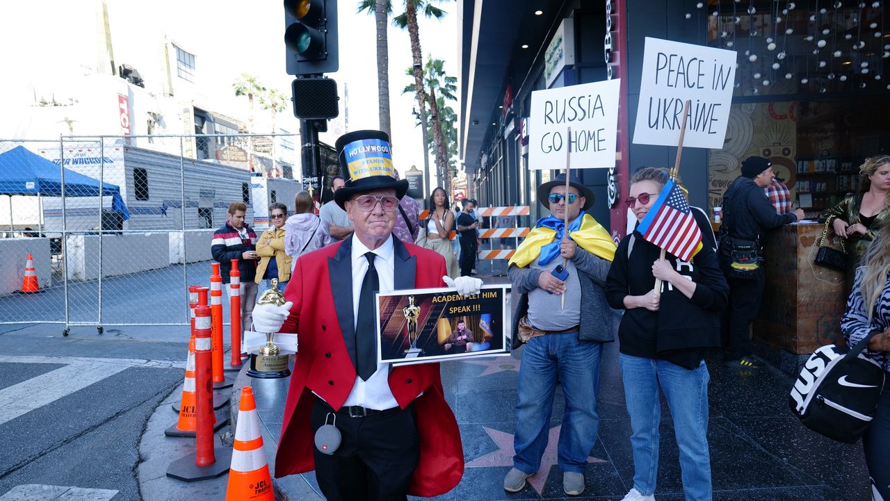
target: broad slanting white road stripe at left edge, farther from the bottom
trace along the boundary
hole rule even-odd
[[[131,368],[111,363],[74,363],[0,390],[0,424]]]

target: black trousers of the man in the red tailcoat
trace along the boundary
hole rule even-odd
[[[312,433],[333,409],[323,400],[312,407]],[[404,501],[420,457],[414,406],[390,413],[350,417],[335,413],[343,441],[334,454],[312,448],[315,478],[328,501]],[[333,419],[328,418],[328,424]]]

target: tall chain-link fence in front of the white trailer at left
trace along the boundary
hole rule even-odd
[[[188,325],[187,287],[209,287],[210,242],[230,204],[246,204],[257,235],[271,202],[293,209],[295,144],[289,134],[0,140],[0,323],[59,323],[66,335]],[[39,292],[23,294],[28,255]]]

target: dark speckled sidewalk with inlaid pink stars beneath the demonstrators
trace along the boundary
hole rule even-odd
[[[480,271],[487,271],[484,269]],[[506,283],[504,277],[481,276],[486,283]],[[846,445],[825,439],[799,424],[788,408],[793,379],[778,369],[725,368],[719,356],[707,360],[710,371],[708,441],[714,499],[719,501],[868,501],[868,473],[862,445]],[[599,437],[588,458],[587,489],[581,497],[566,497],[562,475],[556,466],[556,442],[562,421],[563,396],[557,390],[551,419],[550,440],[542,467],[522,491],[509,494],[502,488],[513,465],[516,378],[522,350],[510,357],[446,362],[441,364],[446,399],[457,416],[464,444],[465,473],[462,481],[437,500],[489,501],[531,499],[597,499],[619,501],[633,486],[634,465],[630,448],[630,424],[618,367],[618,343],[606,345],[601,364]],[[251,379],[242,370],[231,388],[231,408],[238,408],[240,388],[253,386],[263,428],[263,442],[270,468],[281,430],[289,378]],[[227,392],[229,390],[226,390]],[[138,467],[145,501],[189,499],[219,501],[225,496],[228,475],[212,481],[185,483],[165,476],[171,461],[194,454],[194,440],[164,436],[175,423],[169,403],[179,400],[181,389],[156,409],[140,444]],[[678,449],[670,412],[662,399],[659,429],[659,501],[684,499]],[[232,413],[237,415],[237,410]],[[235,417],[235,416],[232,416]],[[232,424],[216,433],[217,447],[231,448]],[[320,495],[314,473],[273,479],[276,499],[312,501]]]

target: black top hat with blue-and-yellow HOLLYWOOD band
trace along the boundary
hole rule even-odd
[[[355,131],[337,138],[337,161],[346,180],[344,187],[334,192],[334,201],[345,209],[346,200],[356,193],[371,190],[395,190],[401,200],[408,193],[408,180],[395,178],[389,134],[383,131]]]

